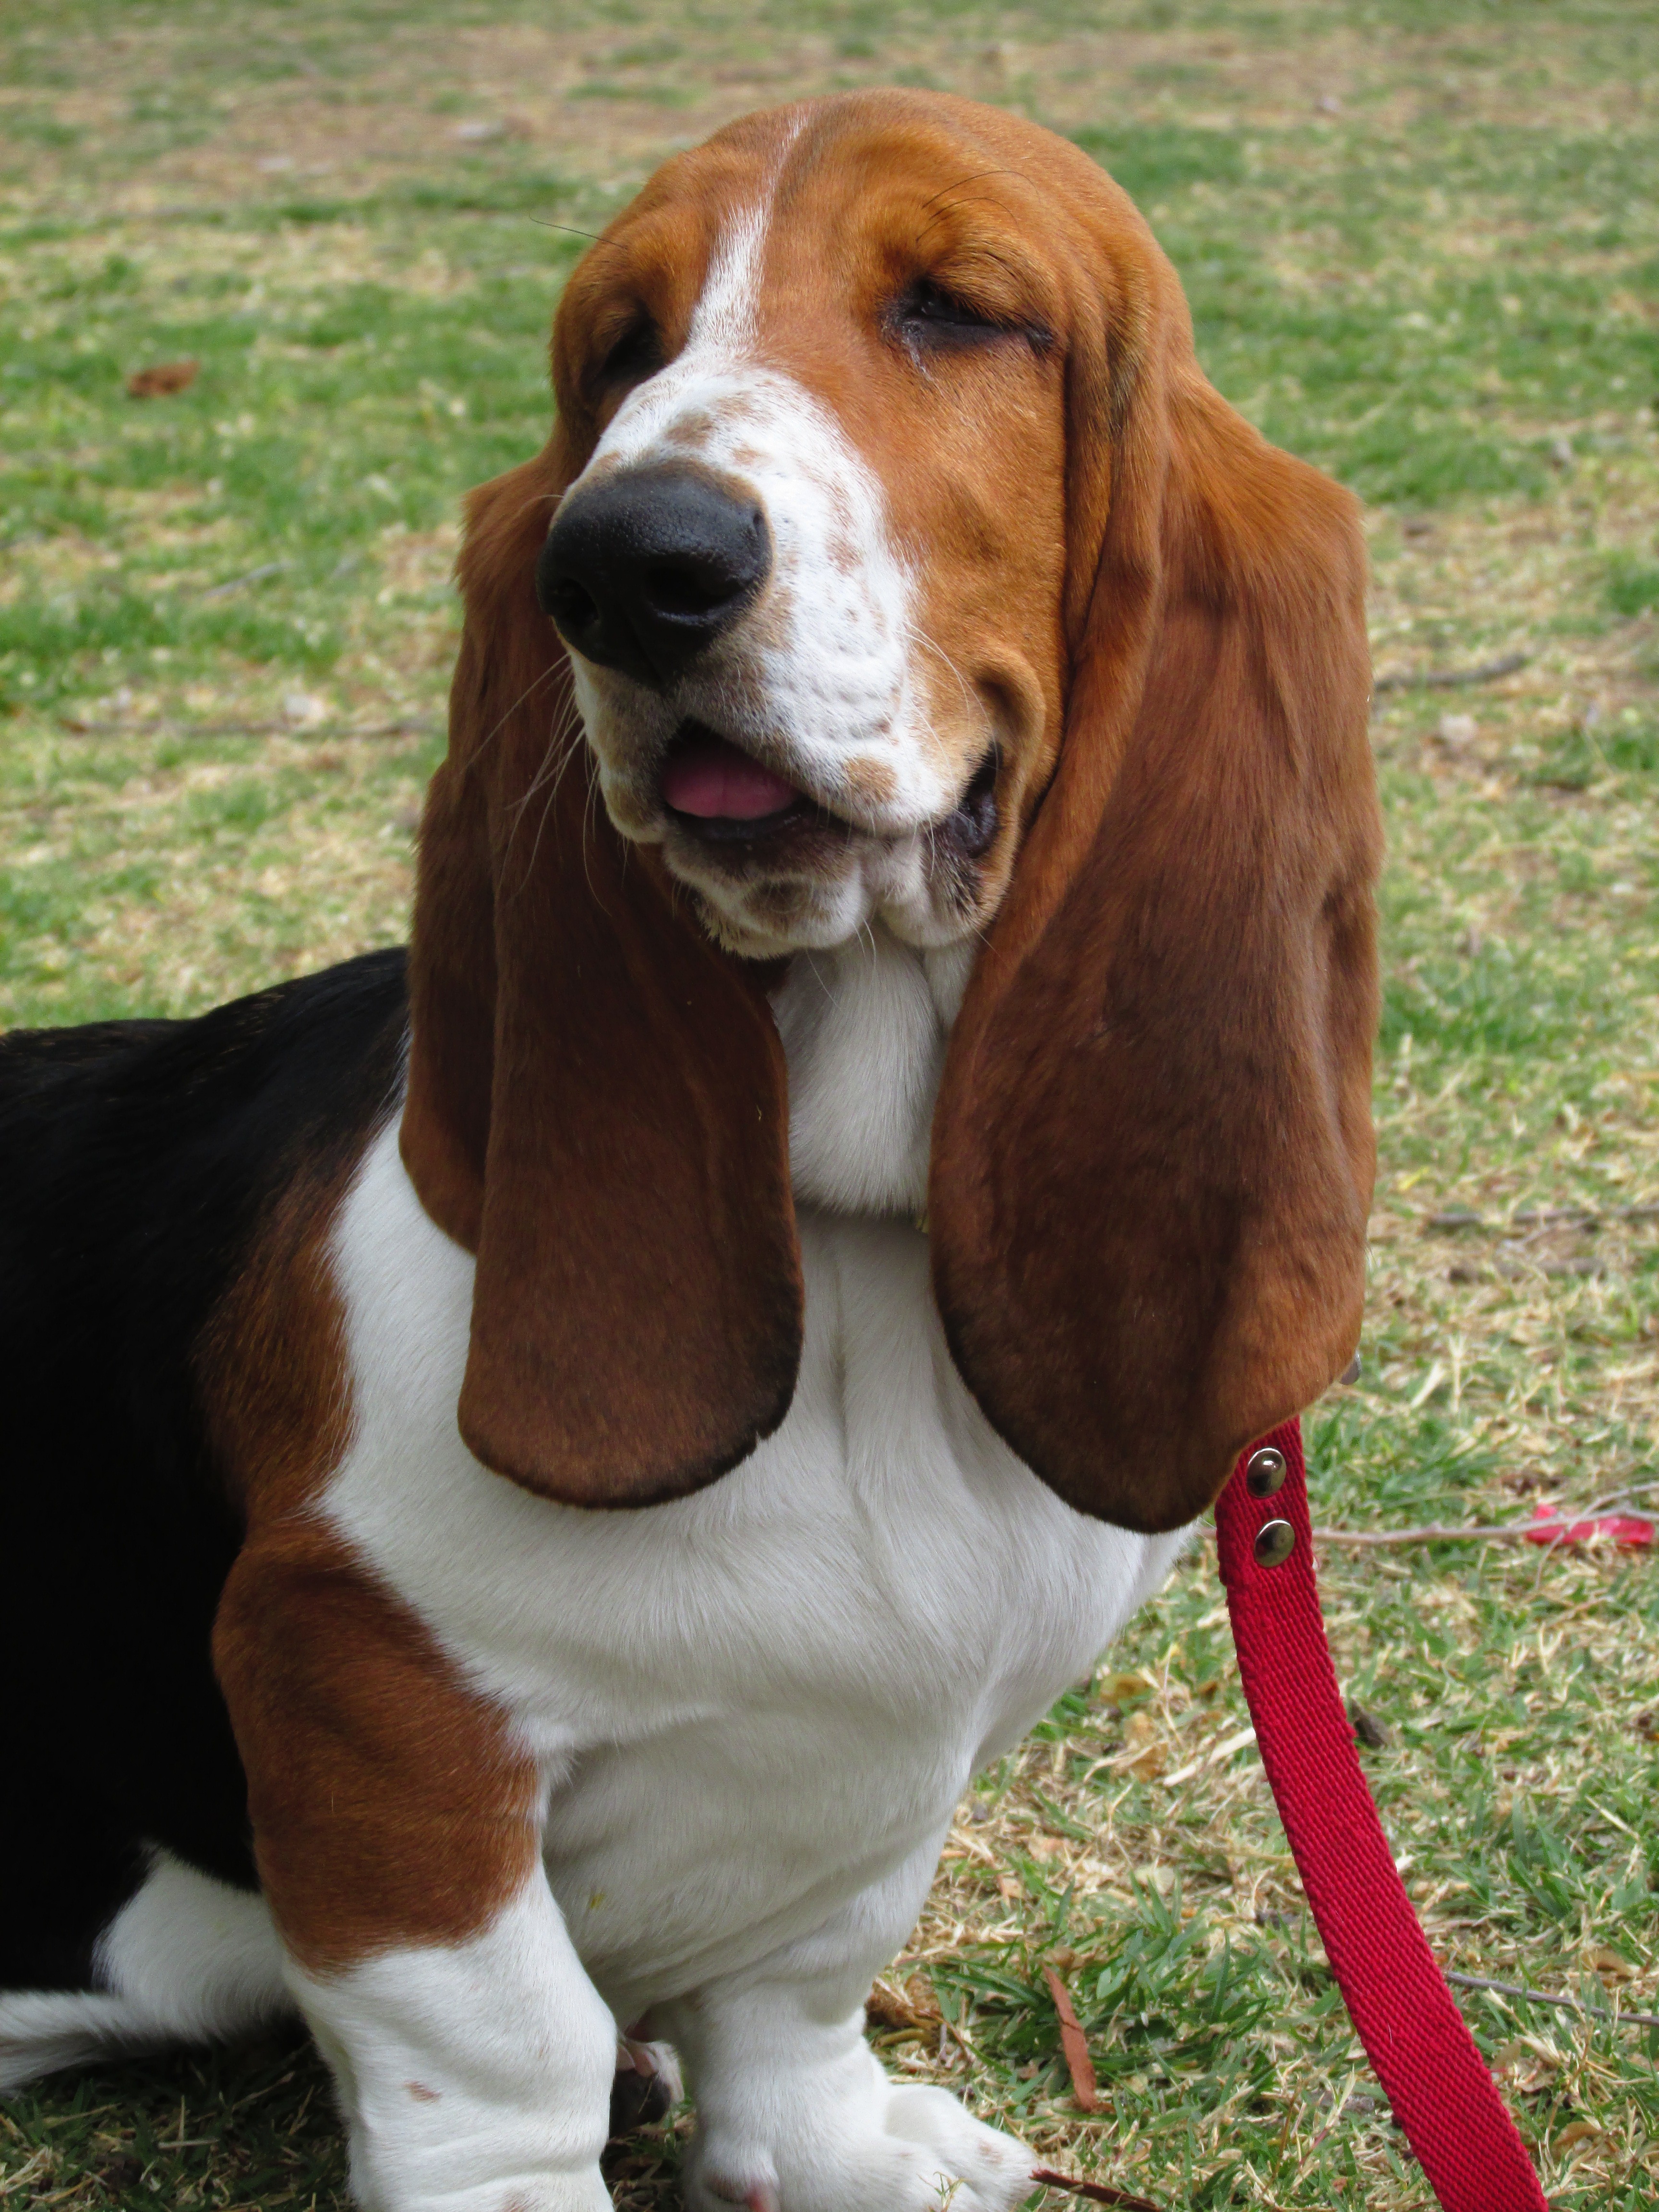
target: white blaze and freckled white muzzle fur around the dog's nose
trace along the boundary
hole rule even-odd
[[[911,666],[916,584],[883,484],[834,411],[757,354],[768,215],[726,226],[684,352],[626,398],[571,487],[690,465],[754,500],[772,540],[754,604],[668,697],[575,661],[602,792],[630,836],[661,836],[655,776],[688,717],[876,836],[916,832],[956,801]]]

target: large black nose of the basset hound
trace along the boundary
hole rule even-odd
[[[754,500],[692,469],[624,469],[560,509],[535,597],[588,661],[664,690],[765,582],[772,538]]]

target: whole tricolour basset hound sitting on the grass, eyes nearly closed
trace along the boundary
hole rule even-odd
[[[1354,1352],[1356,509],[911,91],[670,159],[553,387],[407,962],[0,1048],[0,2084],[299,2008],[365,2205],[602,2212],[628,2031],[697,2212],[1006,2212],[863,1997]]]

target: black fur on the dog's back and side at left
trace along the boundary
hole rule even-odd
[[[192,1349],[261,1217],[363,1150],[403,1071],[403,951],[192,1022],[0,1037],[0,1986],[88,1989],[161,1843],[254,1887],[212,1677],[241,1542]]]

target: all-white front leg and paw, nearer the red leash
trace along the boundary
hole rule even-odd
[[[905,1942],[938,1845],[801,1942],[650,2015],[697,2101],[690,2212],[1011,2212],[1035,2159],[949,2090],[889,2081],[865,2042],[872,1975]]]

